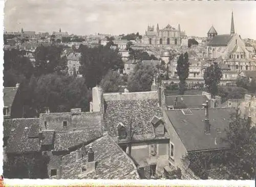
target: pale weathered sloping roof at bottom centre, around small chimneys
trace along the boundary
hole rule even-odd
[[[86,146],[87,150],[92,146],[95,172],[79,177],[81,174],[81,162],[76,162],[76,151],[65,155],[61,159],[61,178],[64,179],[139,179],[136,166],[132,159],[106,135]]]

